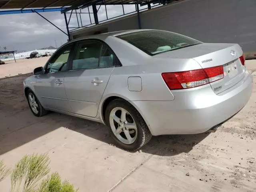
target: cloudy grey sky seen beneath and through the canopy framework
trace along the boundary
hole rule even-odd
[[[135,5],[125,5],[124,10],[125,13],[135,11]],[[107,6],[107,11],[108,18],[118,16],[123,12],[121,5],[109,5]],[[88,12],[88,9],[84,9],[82,12]],[[91,7],[90,12],[92,12]],[[40,14],[66,32],[64,14],[60,12]],[[68,16],[69,14],[67,14]],[[83,25],[90,24],[88,14],[81,14],[81,18]],[[106,19],[105,6],[99,8],[98,19],[99,21]],[[91,20],[94,22],[93,14],[91,14]],[[69,27],[76,26],[78,26],[77,18],[75,14],[72,14]],[[0,15],[0,51],[3,51],[3,46],[6,46],[6,50],[18,51],[29,51],[48,46],[55,47],[56,45],[59,47],[66,43],[67,40],[68,36],[66,34],[62,33],[36,13]]]

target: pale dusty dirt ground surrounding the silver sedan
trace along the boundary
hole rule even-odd
[[[26,70],[7,74],[28,73],[44,65],[40,59],[21,62]],[[3,66],[12,71],[11,65]],[[254,76],[252,96],[217,132],[153,137],[142,152],[115,147],[105,126],[96,122],[55,112],[33,116],[22,90],[29,74],[3,78],[0,159],[13,167],[25,154],[48,153],[51,172],[80,192],[255,192],[256,60],[246,66]],[[9,189],[10,177],[0,183],[1,192]]]

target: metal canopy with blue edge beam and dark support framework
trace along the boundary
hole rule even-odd
[[[175,1],[180,0],[0,0],[0,15],[4,14],[20,14],[20,13],[36,13],[48,22],[50,22],[48,19],[46,19],[44,16],[39,14],[39,12],[51,12],[51,11],[61,11],[61,13],[64,14],[65,23],[66,23],[66,29],[67,33],[61,30],[58,26],[53,26],[58,28],[60,31],[62,31],[64,34],[68,36],[68,40],[70,40],[70,31],[77,30],[79,28],[84,28],[87,26],[97,25],[101,22],[105,22],[110,19],[114,19],[120,16],[125,16],[127,14],[137,13],[138,15],[138,28],[141,28],[141,21],[140,21],[140,12],[144,10],[151,9],[155,6],[159,5],[165,5],[169,4]],[[124,12],[124,5],[131,5],[134,4],[136,10],[133,12],[125,13]],[[151,4],[154,4],[153,6]],[[112,18],[108,18],[107,13],[107,5],[122,5],[123,14],[119,16],[114,16]],[[147,5],[147,8],[139,8],[140,6]],[[92,6],[92,12],[90,12],[89,6]],[[99,20],[98,19],[98,10],[100,9],[100,6],[105,6],[106,10],[106,20]],[[84,12],[82,10],[85,10],[84,8],[88,9],[88,12]],[[10,10],[12,9],[12,10]],[[73,12],[74,11],[74,12]],[[69,14],[69,17],[67,17],[66,14]],[[69,27],[69,22],[72,14],[76,15],[77,18],[77,24],[78,26],[72,26]],[[89,24],[82,24],[82,17],[81,14],[88,14],[90,18]],[[91,14],[93,14],[94,22],[91,19]],[[78,16],[80,18],[80,21],[78,19]]]

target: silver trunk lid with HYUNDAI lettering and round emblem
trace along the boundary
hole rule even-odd
[[[242,49],[238,44],[202,43],[178,50],[157,54],[156,57],[192,58],[202,68],[223,66],[224,77],[221,80],[210,83],[215,94],[231,88],[244,77],[245,66],[239,57]]]

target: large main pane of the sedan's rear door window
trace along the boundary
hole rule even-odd
[[[72,70],[98,68],[101,46],[96,41],[78,44]]]

